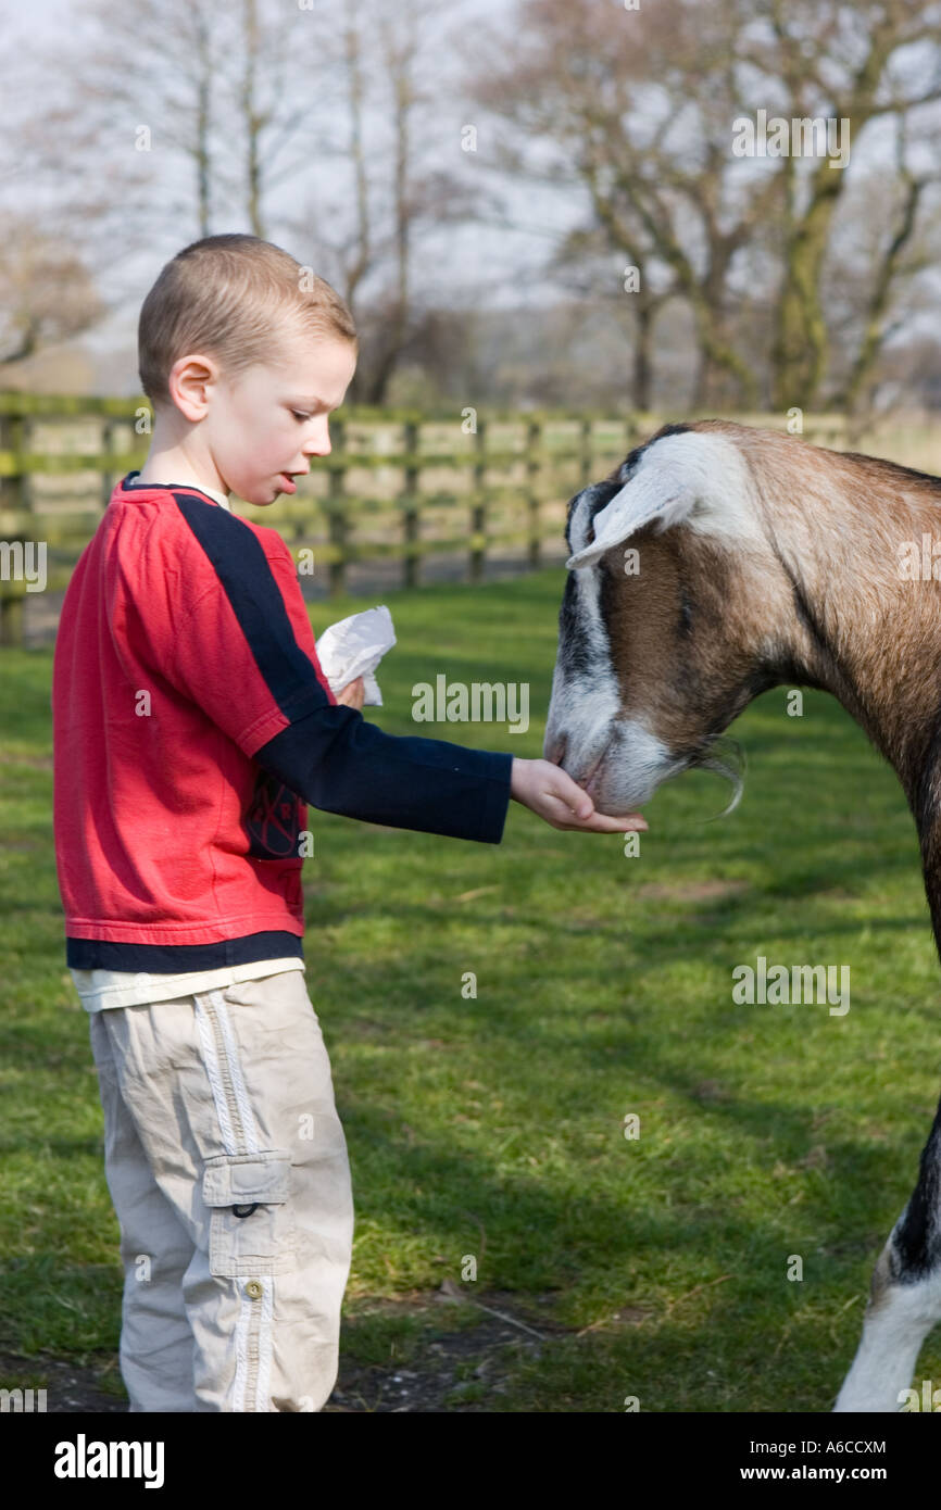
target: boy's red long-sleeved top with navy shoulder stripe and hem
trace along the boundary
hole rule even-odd
[[[68,965],[301,954],[308,802],[498,844],[512,755],[385,734],[337,704],[278,532],[133,476],[82,553],[56,639]]]

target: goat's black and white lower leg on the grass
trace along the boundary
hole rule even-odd
[[[873,1273],[862,1339],[834,1410],[899,1410],[926,1335],[941,1321],[941,1105],[918,1184]]]

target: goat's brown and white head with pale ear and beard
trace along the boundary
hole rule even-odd
[[[784,680],[793,615],[740,448],[665,427],[571,500],[566,542],[545,758],[601,812],[693,766],[734,782],[731,811],[742,779],[720,734]]]

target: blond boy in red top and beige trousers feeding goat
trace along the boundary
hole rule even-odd
[[[53,672],[66,962],[89,1012],[125,1268],[131,1412],[320,1410],[353,1235],[304,980],[307,803],[498,844],[509,799],[594,812],[559,767],[366,722],[335,698],[269,504],[329,455],[343,300],[251,236],[195,242],[139,323],[154,406],[71,578]]]

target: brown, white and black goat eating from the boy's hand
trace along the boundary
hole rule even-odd
[[[600,812],[711,766],[760,693],[832,693],[894,767],[941,954],[941,479],[725,420],[668,424],[568,506],[544,757]],[[637,551],[628,569],[624,548]],[[728,809],[727,809],[728,811]],[[941,1105],[834,1410],[899,1410],[941,1320]]]

